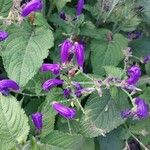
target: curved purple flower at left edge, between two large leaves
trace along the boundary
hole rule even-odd
[[[0,81],[0,92],[5,96],[7,96],[10,91],[19,91],[19,89],[19,85],[13,80],[4,79]]]

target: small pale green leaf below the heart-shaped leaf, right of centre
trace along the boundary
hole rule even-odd
[[[122,77],[125,75],[125,72],[123,71],[122,68],[114,66],[104,66],[104,69],[107,76],[122,79]]]

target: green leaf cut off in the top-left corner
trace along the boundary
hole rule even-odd
[[[12,5],[12,0],[0,0],[0,16],[7,17]]]

